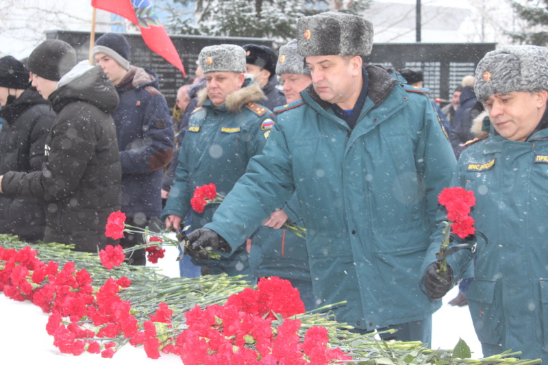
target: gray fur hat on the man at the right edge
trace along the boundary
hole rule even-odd
[[[482,103],[490,95],[548,90],[548,50],[507,46],[488,52],[475,69],[474,92]]]

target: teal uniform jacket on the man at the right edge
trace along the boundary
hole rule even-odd
[[[548,129],[526,142],[491,130],[462,152],[458,170],[452,184],[474,192],[471,216],[488,238],[477,242],[466,293],[483,355],[512,349],[548,361]],[[458,258],[448,263],[462,271]]]

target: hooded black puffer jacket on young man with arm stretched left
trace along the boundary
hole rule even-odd
[[[118,93],[99,66],[81,63],[60,80],[49,102],[57,119],[42,171],[5,173],[2,190],[45,203],[46,242],[97,252],[113,242],[105,237],[105,224],[121,204],[120,153],[109,114],[119,103]]]

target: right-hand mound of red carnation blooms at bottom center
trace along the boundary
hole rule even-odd
[[[329,364],[351,360],[340,349],[327,348],[327,329],[308,329],[301,343],[299,319],[304,312],[289,281],[260,279],[257,290],[234,294],[225,305],[195,307],[186,312],[188,329],[175,343],[185,365],[199,364]],[[281,322],[277,329],[273,321]],[[252,347],[250,345],[253,345]]]

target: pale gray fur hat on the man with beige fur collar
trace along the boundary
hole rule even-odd
[[[203,47],[198,62],[204,74],[212,72],[245,73],[245,50],[236,45]]]

